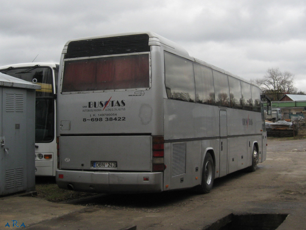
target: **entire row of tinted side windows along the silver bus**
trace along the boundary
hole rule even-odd
[[[168,98],[260,112],[258,87],[168,52],[164,56]]]

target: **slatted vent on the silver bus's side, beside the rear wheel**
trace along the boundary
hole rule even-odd
[[[186,143],[172,145],[172,177],[186,173]]]

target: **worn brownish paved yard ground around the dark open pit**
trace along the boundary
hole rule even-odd
[[[253,173],[215,180],[209,194],[98,195],[53,203],[35,197],[0,197],[0,229],[196,230],[230,214],[288,214],[278,230],[306,229],[306,141],[268,142],[267,160]],[[9,223],[10,228],[5,225]],[[135,228],[134,228],[135,229]]]

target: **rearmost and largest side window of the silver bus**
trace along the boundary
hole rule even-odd
[[[192,62],[168,52],[164,54],[167,97],[194,102],[195,82]]]

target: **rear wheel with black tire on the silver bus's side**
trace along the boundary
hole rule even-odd
[[[204,158],[202,179],[201,179],[201,184],[198,186],[198,191],[201,194],[209,193],[212,189],[214,179],[215,179],[214,160],[212,159],[210,153],[207,153]]]

